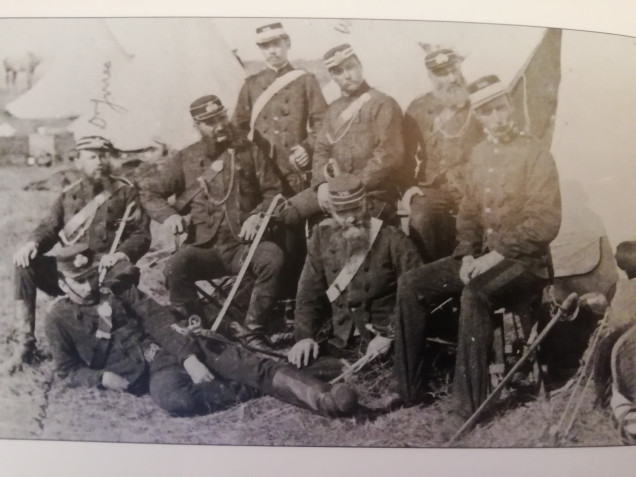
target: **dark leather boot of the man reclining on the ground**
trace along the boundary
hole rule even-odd
[[[270,394],[329,417],[350,416],[358,406],[358,395],[346,385],[331,386],[289,367],[276,371]]]

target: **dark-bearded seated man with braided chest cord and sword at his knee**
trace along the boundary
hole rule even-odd
[[[180,151],[161,176],[142,191],[150,216],[175,234],[187,230],[187,246],[164,270],[170,302],[184,316],[203,316],[195,282],[238,273],[265,212],[280,193],[280,181],[262,150],[239,137],[219,98],[203,96],[190,105],[201,140]],[[173,205],[168,202],[177,196]],[[191,220],[186,227],[183,215]],[[277,298],[283,252],[262,241],[250,263],[255,279],[244,325],[246,344],[266,348],[266,321]]]

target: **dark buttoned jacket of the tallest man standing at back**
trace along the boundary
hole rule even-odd
[[[258,97],[276,80],[293,71],[287,65],[279,71],[265,68],[249,76],[241,88],[234,117],[239,129],[249,132],[252,108]],[[300,172],[290,164],[290,148],[301,145],[311,157],[316,133],[322,127],[327,103],[313,74],[304,74],[282,88],[263,107],[254,123],[254,142],[259,144],[275,160],[284,177],[283,186],[289,185],[293,195],[304,189]],[[285,184],[285,182],[287,184]]]

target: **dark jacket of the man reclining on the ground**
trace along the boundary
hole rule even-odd
[[[133,298],[111,296],[113,328],[106,360],[95,364],[98,339],[99,305],[80,305],[68,297],[56,301],[45,322],[57,374],[72,386],[98,386],[104,371],[126,378],[131,385],[144,375],[144,352],[151,343],[161,346],[179,362],[196,354],[198,345],[172,328],[174,317],[167,308],[135,290]]]

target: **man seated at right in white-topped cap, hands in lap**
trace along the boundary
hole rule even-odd
[[[488,393],[492,312],[542,290],[549,244],[561,222],[559,181],[547,147],[517,130],[512,104],[496,76],[468,86],[487,139],[469,159],[457,217],[458,246],[400,277],[396,373],[402,398],[424,392],[424,339],[431,310],[461,295],[451,425],[468,418]]]

